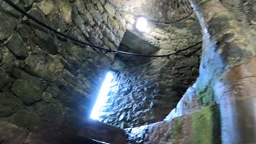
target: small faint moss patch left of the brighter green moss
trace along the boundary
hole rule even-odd
[[[172,126],[172,138],[174,138],[174,143],[177,142],[180,138],[182,138],[182,126],[183,126],[183,118],[177,118],[174,120]]]

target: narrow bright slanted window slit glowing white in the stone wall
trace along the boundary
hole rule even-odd
[[[106,74],[106,78],[102,83],[102,89],[100,90],[94,108],[91,111],[90,118],[99,120],[99,117],[103,114],[102,107],[106,106],[106,101],[108,99],[107,94],[110,92],[110,83],[113,78],[114,77],[111,72],[108,72]]]

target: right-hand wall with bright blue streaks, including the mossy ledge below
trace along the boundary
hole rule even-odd
[[[255,143],[255,29],[221,2],[190,2],[203,29],[199,77],[163,122],[127,129],[128,143]]]

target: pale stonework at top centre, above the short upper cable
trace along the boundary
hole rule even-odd
[[[174,22],[176,19],[185,18],[193,10],[188,0],[109,0],[118,10],[125,10],[137,16],[144,16],[157,22]]]

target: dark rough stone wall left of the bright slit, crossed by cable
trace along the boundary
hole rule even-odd
[[[116,50],[125,21],[105,0],[15,4],[83,42]],[[88,118],[114,54],[79,46],[0,2],[0,120],[30,130],[79,127]]]

